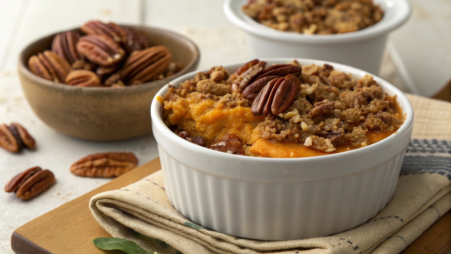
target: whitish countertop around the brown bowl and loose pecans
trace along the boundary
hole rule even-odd
[[[139,165],[158,156],[152,134],[122,142],[88,142],[55,132],[32,112],[15,71],[18,52],[45,34],[80,26],[90,19],[170,28],[191,37],[201,49],[199,69],[248,59],[244,33],[222,13],[222,1],[198,0],[0,0],[0,124],[18,122],[37,141],[35,151],[13,154],[0,149],[0,185],[21,171],[41,166],[54,172],[56,184],[29,201],[0,192],[0,253],[13,253],[9,239],[18,226],[110,179],[78,177],[69,166],[93,152],[130,151]],[[201,4],[202,3],[202,4]],[[381,76],[405,89],[388,55]]]

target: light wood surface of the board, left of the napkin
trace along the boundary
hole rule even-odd
[[[110,237],[92,216],[89,200],[104,191],[119,189],[161,169],[158,158],[120,175],[109,183],[19,227],[11,237],[11,248],[17,254],[105,254],[92,239]],[[21,237],[22,236],[22,237]],[[28,239],[29,242],[25,239]],[[34,245],[32,245],[34,243]],[[47,252],[44,252],[44,250]],[[109,251],[108,254],[123,254]]]

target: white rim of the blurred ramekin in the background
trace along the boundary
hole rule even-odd
[[[263,37],[273,41],[285,41],[295,43],[345,43],[367,40],[373,37],[382,36],[398,28],[405,23],[412,13],[412,5],[407,0],[380,0],[377,4],[384,9],[385,14],[387,10],[392,10],[393,13],[384,17],[379,22],[354,32],[345,32],[339,34],[312,34],[305,35],[303,33],[280,31],[274,28],[269,28],[244,14],[241,10],[241,4],[244,0],[225,0],[223,9],[229,21],[241,30],[249,32],[252,35]],[[236,12],[236,5],[239,3],[239,13]]]

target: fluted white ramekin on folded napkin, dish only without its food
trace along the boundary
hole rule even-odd
[[[267,65],[293,58],[262,59]],[[320,60],[363,77],[367,72]],[[225,65],[230,72],[244,63]],[[207,71],[207,70],[204,70]],[[174,79],[191,79],[197,72]],[[404,124],[395,134],[364,148],[306,158],[260,158],[217,152],[174,134],[161,120],[162,105],[152,101],[152,130],[158,142],[166,194],[177,210],[198,224],[233,236],[261,240],[327,236],[364,223],[390,201],[412,135],[414,113],[405,95],[374,77],[396,95]],[[168,86],[156,96],[163,97]]]

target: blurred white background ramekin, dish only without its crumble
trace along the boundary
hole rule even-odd
[[[341,34],[305,35],[264,26],[241,10],[247,0],[226,0],[224,12],[246,32],[252,58],[303,57],[327,60],[378,74],[387,35],[410,16],[407,0],[374,0],[384,9],[384,17],[373,26]]]

